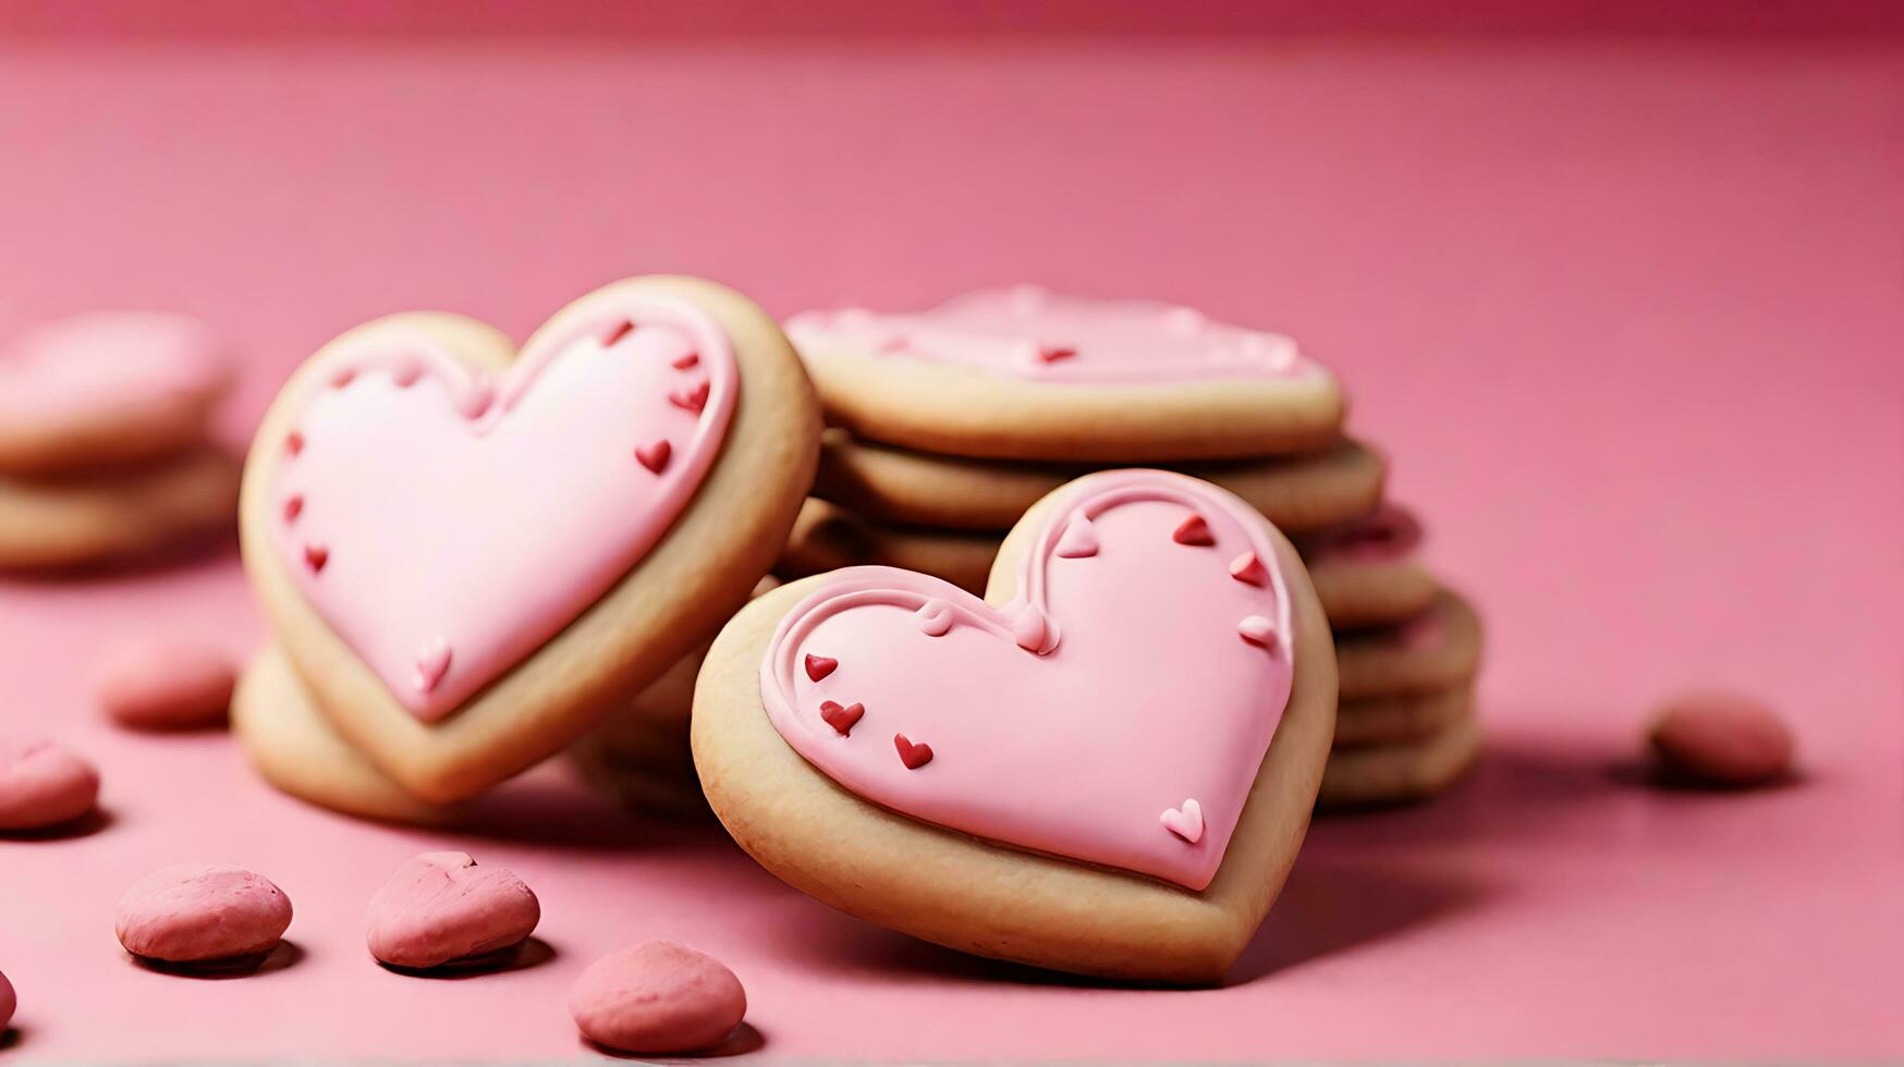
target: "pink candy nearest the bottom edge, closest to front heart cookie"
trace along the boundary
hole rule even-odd
[[[714,1048],[746,1016],[746,991],[708,955],[645,941],[598,959],[569,989],[583,1037],[636,1054]]]

